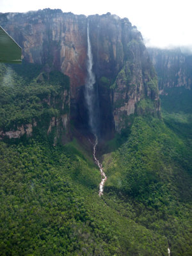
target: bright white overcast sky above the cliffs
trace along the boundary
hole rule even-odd
[[[111,12],[137,26],[148,46],[192,48],[192,0],[0,0],[3,13],[44,8],[84,15]]]

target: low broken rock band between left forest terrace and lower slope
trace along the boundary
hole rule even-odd
[[[36,118],[36,120],[33,119],[32,124],[15,125],[13,123],[12,129],[4,129],[4,127],[1,127],[2,130],[0,130],[0,140],[3,140],[3,138],[17,139],[24,134],[27,137],[30,137],[33,135],[34,128],[39,127],[40,129],[47,129],[48,136],[51,134],[51,132],[53,132],[54,145],[56,145],[56,140],[58,138],[60,138],[63,142],[67,141],[67,136],[70,136],[70,97],[68,91],[63,90],[63,92],[57,96],[49,95],[49,97],[42,99],[42,103],[49,106],[49,109],[54,109],[56,116],[54,116],[54,113],[52,113],[49,117],[45,111],[45,115],[42,115],[41,118]],[[17,120],[15,120],[15,123],[17,124]]]

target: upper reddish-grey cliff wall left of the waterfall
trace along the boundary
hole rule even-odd
[[[4,13],[1,26],[22,47],[24,59],[70,77],[71,97],[86,77],[86,16],[61,10]]]

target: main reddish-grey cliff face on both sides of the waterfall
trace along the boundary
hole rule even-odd
[[[143,113],[143,99],[159,113],[156,73],[141,33],[128,19],[116,15],[74,15],[45,9],[28,13],[2,13],[1,26],[20,44],[24,59],[60,70],[70,77],[70,118],[87,126],[84,103],[87,24],[93,54],[93,71],[99,93],[100,133],[112,136],[128,124],[133,113]]]

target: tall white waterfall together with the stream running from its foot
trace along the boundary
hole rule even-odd
[[[102,164],[96,157],[96,147],[97,147],[97,134],[99,127],[99,99],[97,94],[97,89],[94,88],[95,84],[95,74],[93,73],[93,56],[92,56],[92,45],[90,43],[90,31],[89,23],[87,25],[87,77],[85,83],[85,100],[88,108],[88,124],[90,129],[95,136],[95,143],[93,144],[93,159],[95,164],[99,167],[101,182],[99,184],[99,196],[103,195],[104,184],[107,180],[106,174],[103,171]]]

